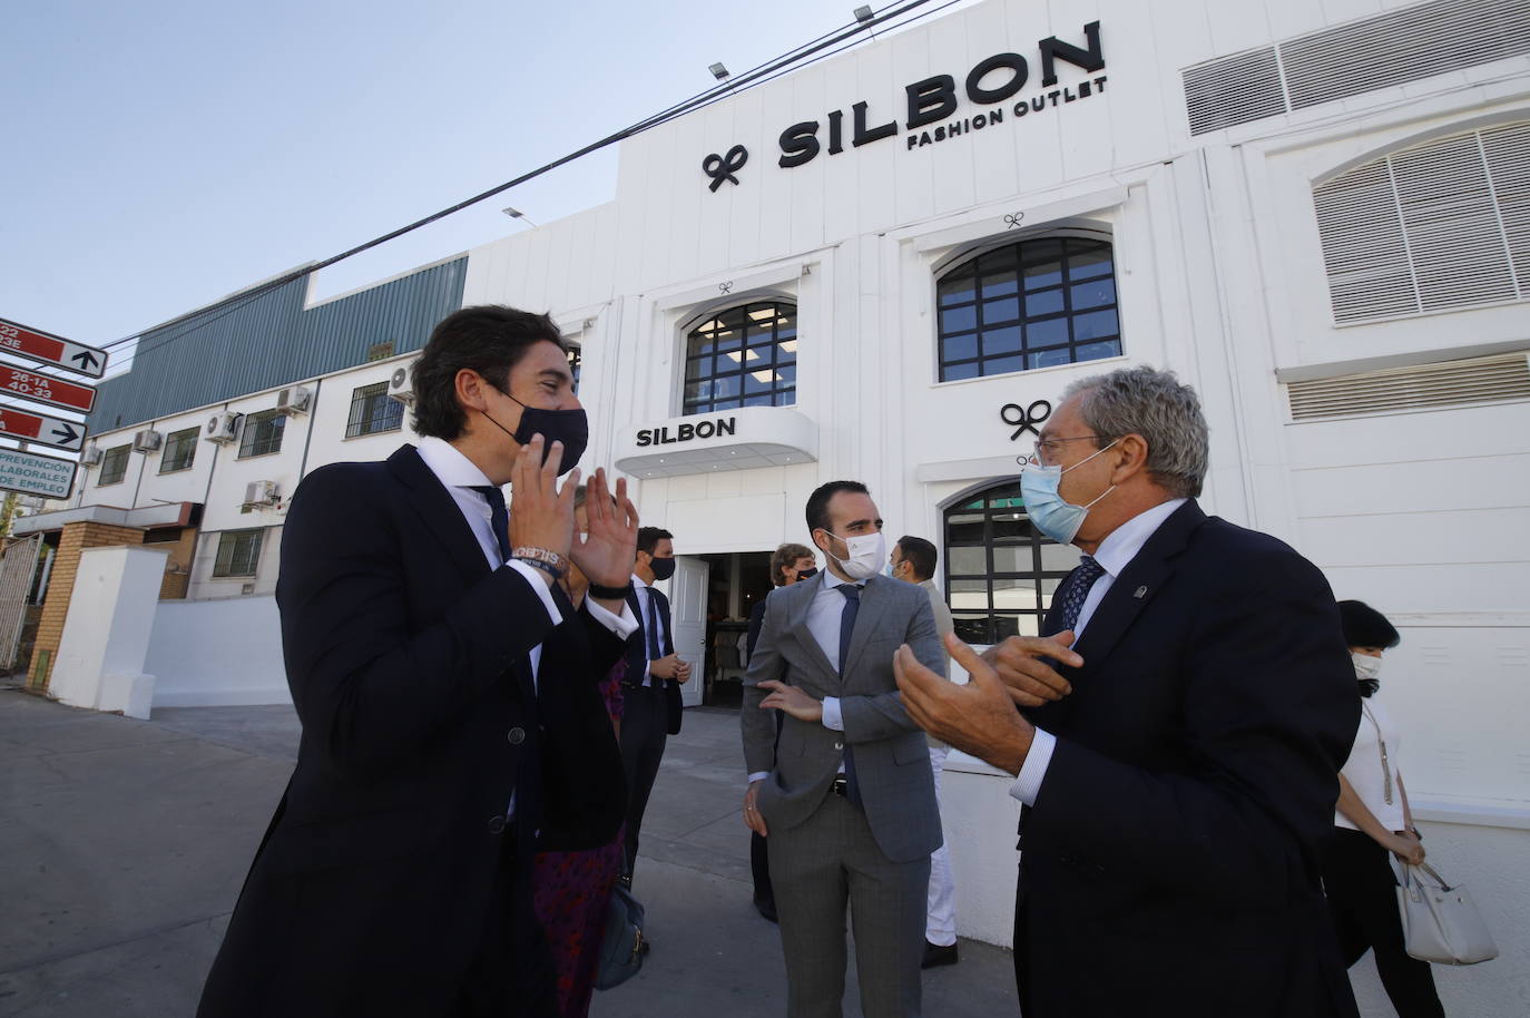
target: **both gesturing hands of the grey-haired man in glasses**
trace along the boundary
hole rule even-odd
[[[1073,632],[1010,637],[979,655],[947,634],[946,649],[972,677],[965,686],[927,669],[909,644],[898,648],[892,671],[903,692],[903,707],[915,724],[964,753],[1017,775],[1036,733],[1019,709],[1056,703],[1073,692],[1068,680],[1043,660],[1082,666],[1083,658],[1073,651]]]

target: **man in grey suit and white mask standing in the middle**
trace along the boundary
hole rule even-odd
[[[744,678],[744,821],[770,837],[791,1018],[838,1018],[845,905],[866,1018],[920,1013],[926,888],[941,817],[924,733],[892,655],[932,669],[944,649],[924,591],[878,576],[881,519],[866,485],[808,498],[819,577],[777,588]],[[771,710],[785,715],[780,739]]]

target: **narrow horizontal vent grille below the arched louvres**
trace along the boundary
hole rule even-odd
[[[1287,386],[1293,421],[1530,400],[1530,358],[1499,354]]]

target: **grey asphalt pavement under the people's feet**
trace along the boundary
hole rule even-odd
[[[138,721],[0,687],[0,1015],[191,1015],[297,759],[291,707]],[[643,827],[635,892],[655,943],[597,1018],[785,1012],[780,937],[754,911],[737,713],[692,709]],[[854,957],[854,955],[852,955]],[[857,1007],[854,963],[845,1013]],[[1007,951],[961,941],[924,1012],[1016,1015]]]

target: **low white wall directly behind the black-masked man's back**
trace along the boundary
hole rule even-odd
[[[159,602],[145,669],[156,707],[292,703],[274,597]]]

